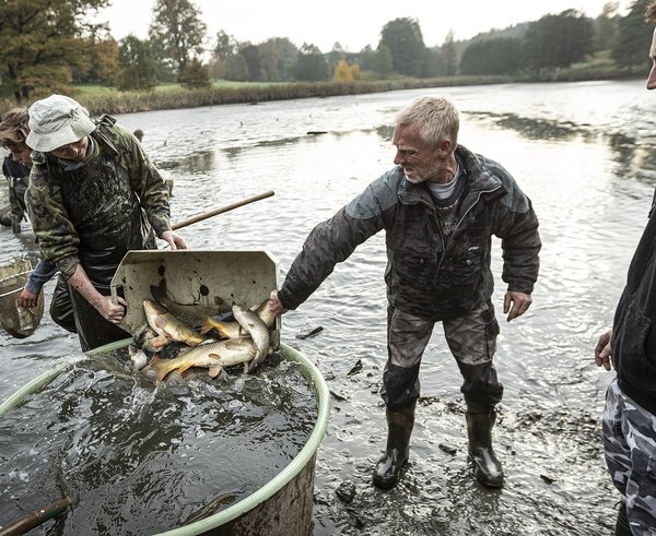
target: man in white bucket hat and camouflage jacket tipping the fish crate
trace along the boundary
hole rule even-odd
[[[34,103],[26,143],[34,151],[26,202],[42,258],[67,277],[84,352],[126,337],[128,303],[113,303],[109,284],[134,249],[155,235],[185,249],[171,228],[168,192],[141,144],[109,116],[63,95]],[[140,307],[138,305],[137,307]]]

